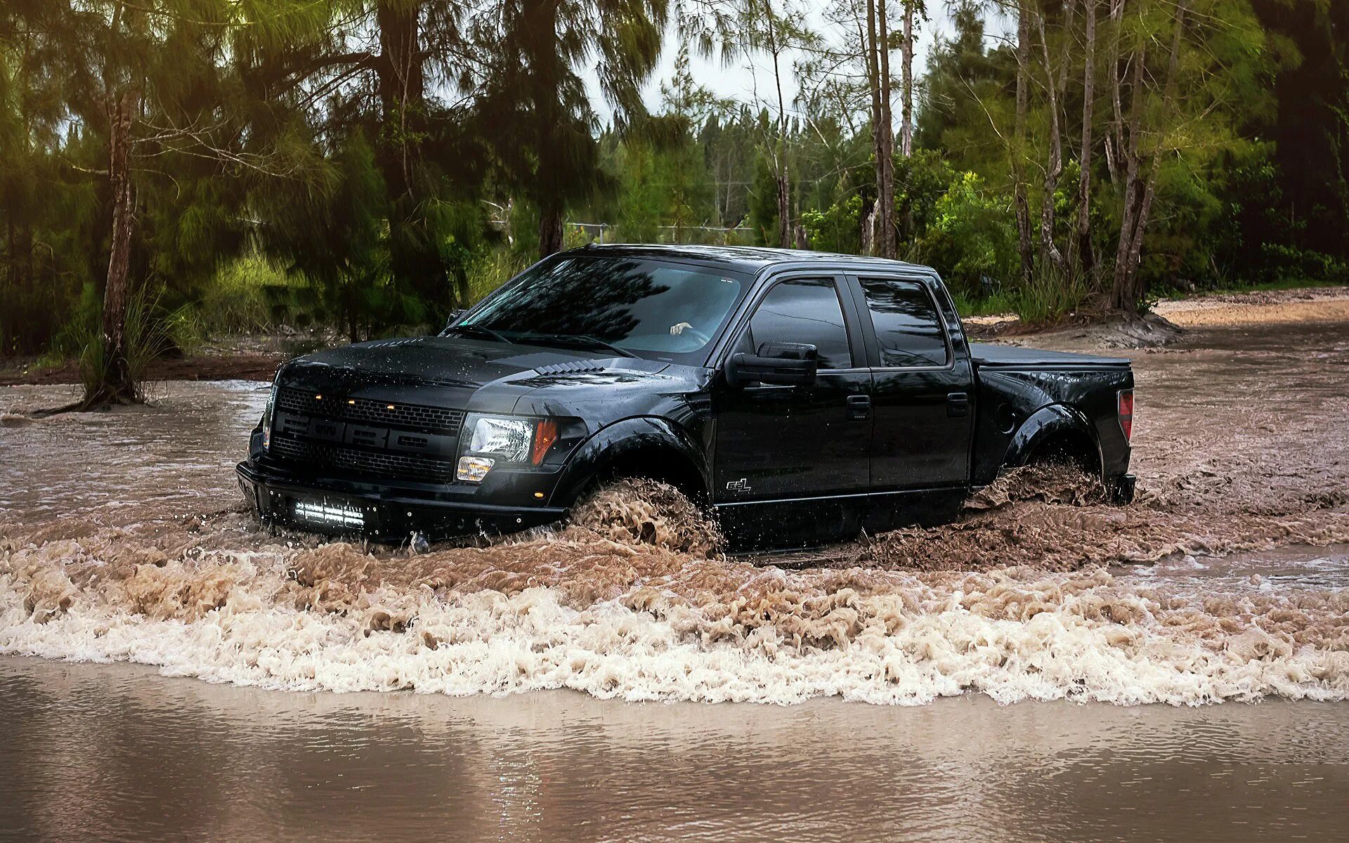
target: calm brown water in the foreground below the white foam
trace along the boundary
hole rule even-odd
[[[47,839],[1342,839],[1349,708],[274,693],[0,657]]]

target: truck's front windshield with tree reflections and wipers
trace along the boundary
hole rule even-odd
[[[510,341],[591,345],[700,364],[745,289],[739,272],[567,255],[502,287],[449,330],[473,326]]]

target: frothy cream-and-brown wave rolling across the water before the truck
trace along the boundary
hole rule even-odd
[[[347,575],[360,560],[407,561],[345,545],[317,553]],[[629,564],[645,573],[587,599],[557,581],[584,576],[575,561],[536,577],[548,584],[371,577],[370,588],[339,588],[302,581],[313,569],[277,546],[132,562],[74,540],[11,546],[0,556],[0,653],[295,691],[571,688],[780,704],[966,692],[1121,704],[1349,699],[1341,591],[1186,598],[1125,587],[1103,569],[782,572],[716,560],[697,561],[691,580],[642,568],[639,554]],[[695,580],[739,585],[711,599]]]

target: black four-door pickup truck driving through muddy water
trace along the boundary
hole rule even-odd
[[[264,521],[510,531],[642,476],[742,546],[952,517],[1071,460],[1133,495],[1128,360],[977,345],[931,268],[785,250],[553,255],[438,336],[286,363],[237,473]]]

